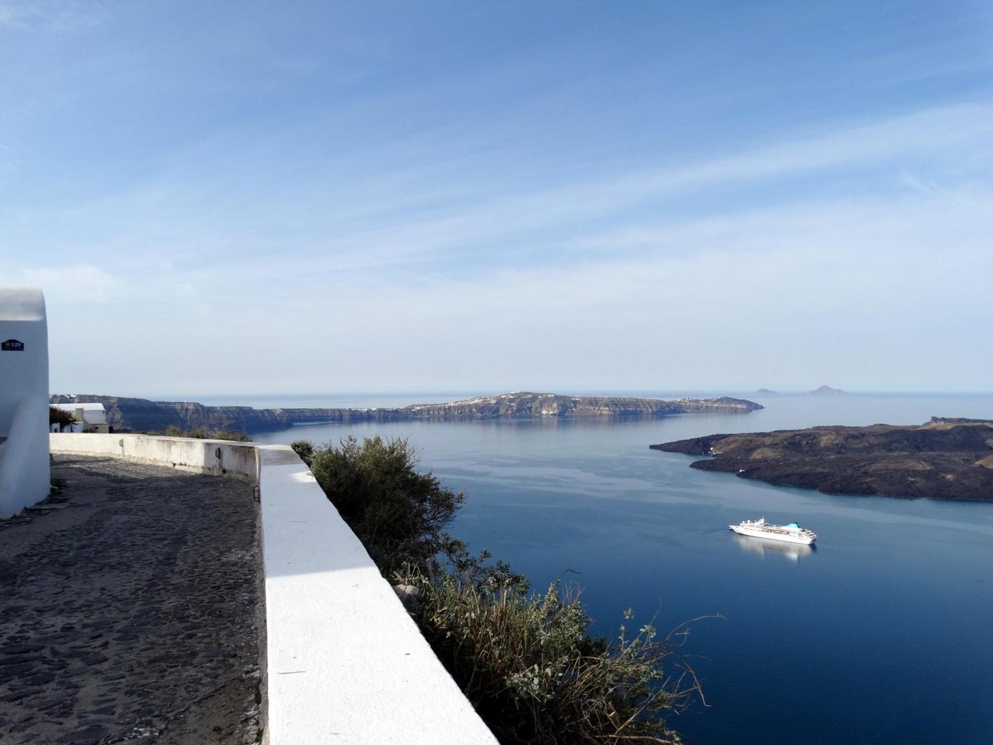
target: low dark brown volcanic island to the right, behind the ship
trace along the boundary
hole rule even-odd
[[[651,445],[709,455],[690,466],[825,494],[993,501],[993,421],[715,434]]]

